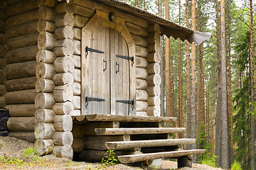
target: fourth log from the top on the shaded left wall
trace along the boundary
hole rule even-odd
[[[38,33],[31,33],[28,35],[21,35],[15,38],[10,38],[6,41],[6,46],[9,50],[15,50],[17,48],[28,47],[31,45],[37,45]]]

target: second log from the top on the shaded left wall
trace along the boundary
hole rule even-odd
[[[30,23],[36,20],[38,20],[38,9],[11,16],[7,19],[7,24],[9,27],[14,27],[22,23]]]

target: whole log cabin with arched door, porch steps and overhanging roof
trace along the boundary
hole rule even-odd
[[[147,166],[178,158],[194,139],[172,139],[160,117],[160,36],[210,38],[117,0],[0,0],[0,108],[8,135],[38,154]],[[6,116],[6,113],[4,114]],[[2,125],[0,123],[0,125]]]

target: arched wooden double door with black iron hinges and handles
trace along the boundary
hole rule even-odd
[[[99,27],[85,52],[85,114],[129,115],[130,95],[127,42],[116,30]]]

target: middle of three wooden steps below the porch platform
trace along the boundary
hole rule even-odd
[[[171,140],[134,140],[105,142],[107,149],[130,149],[136,147],[162,147],[174,145],[195,144],[195,139],[171,139]]]

